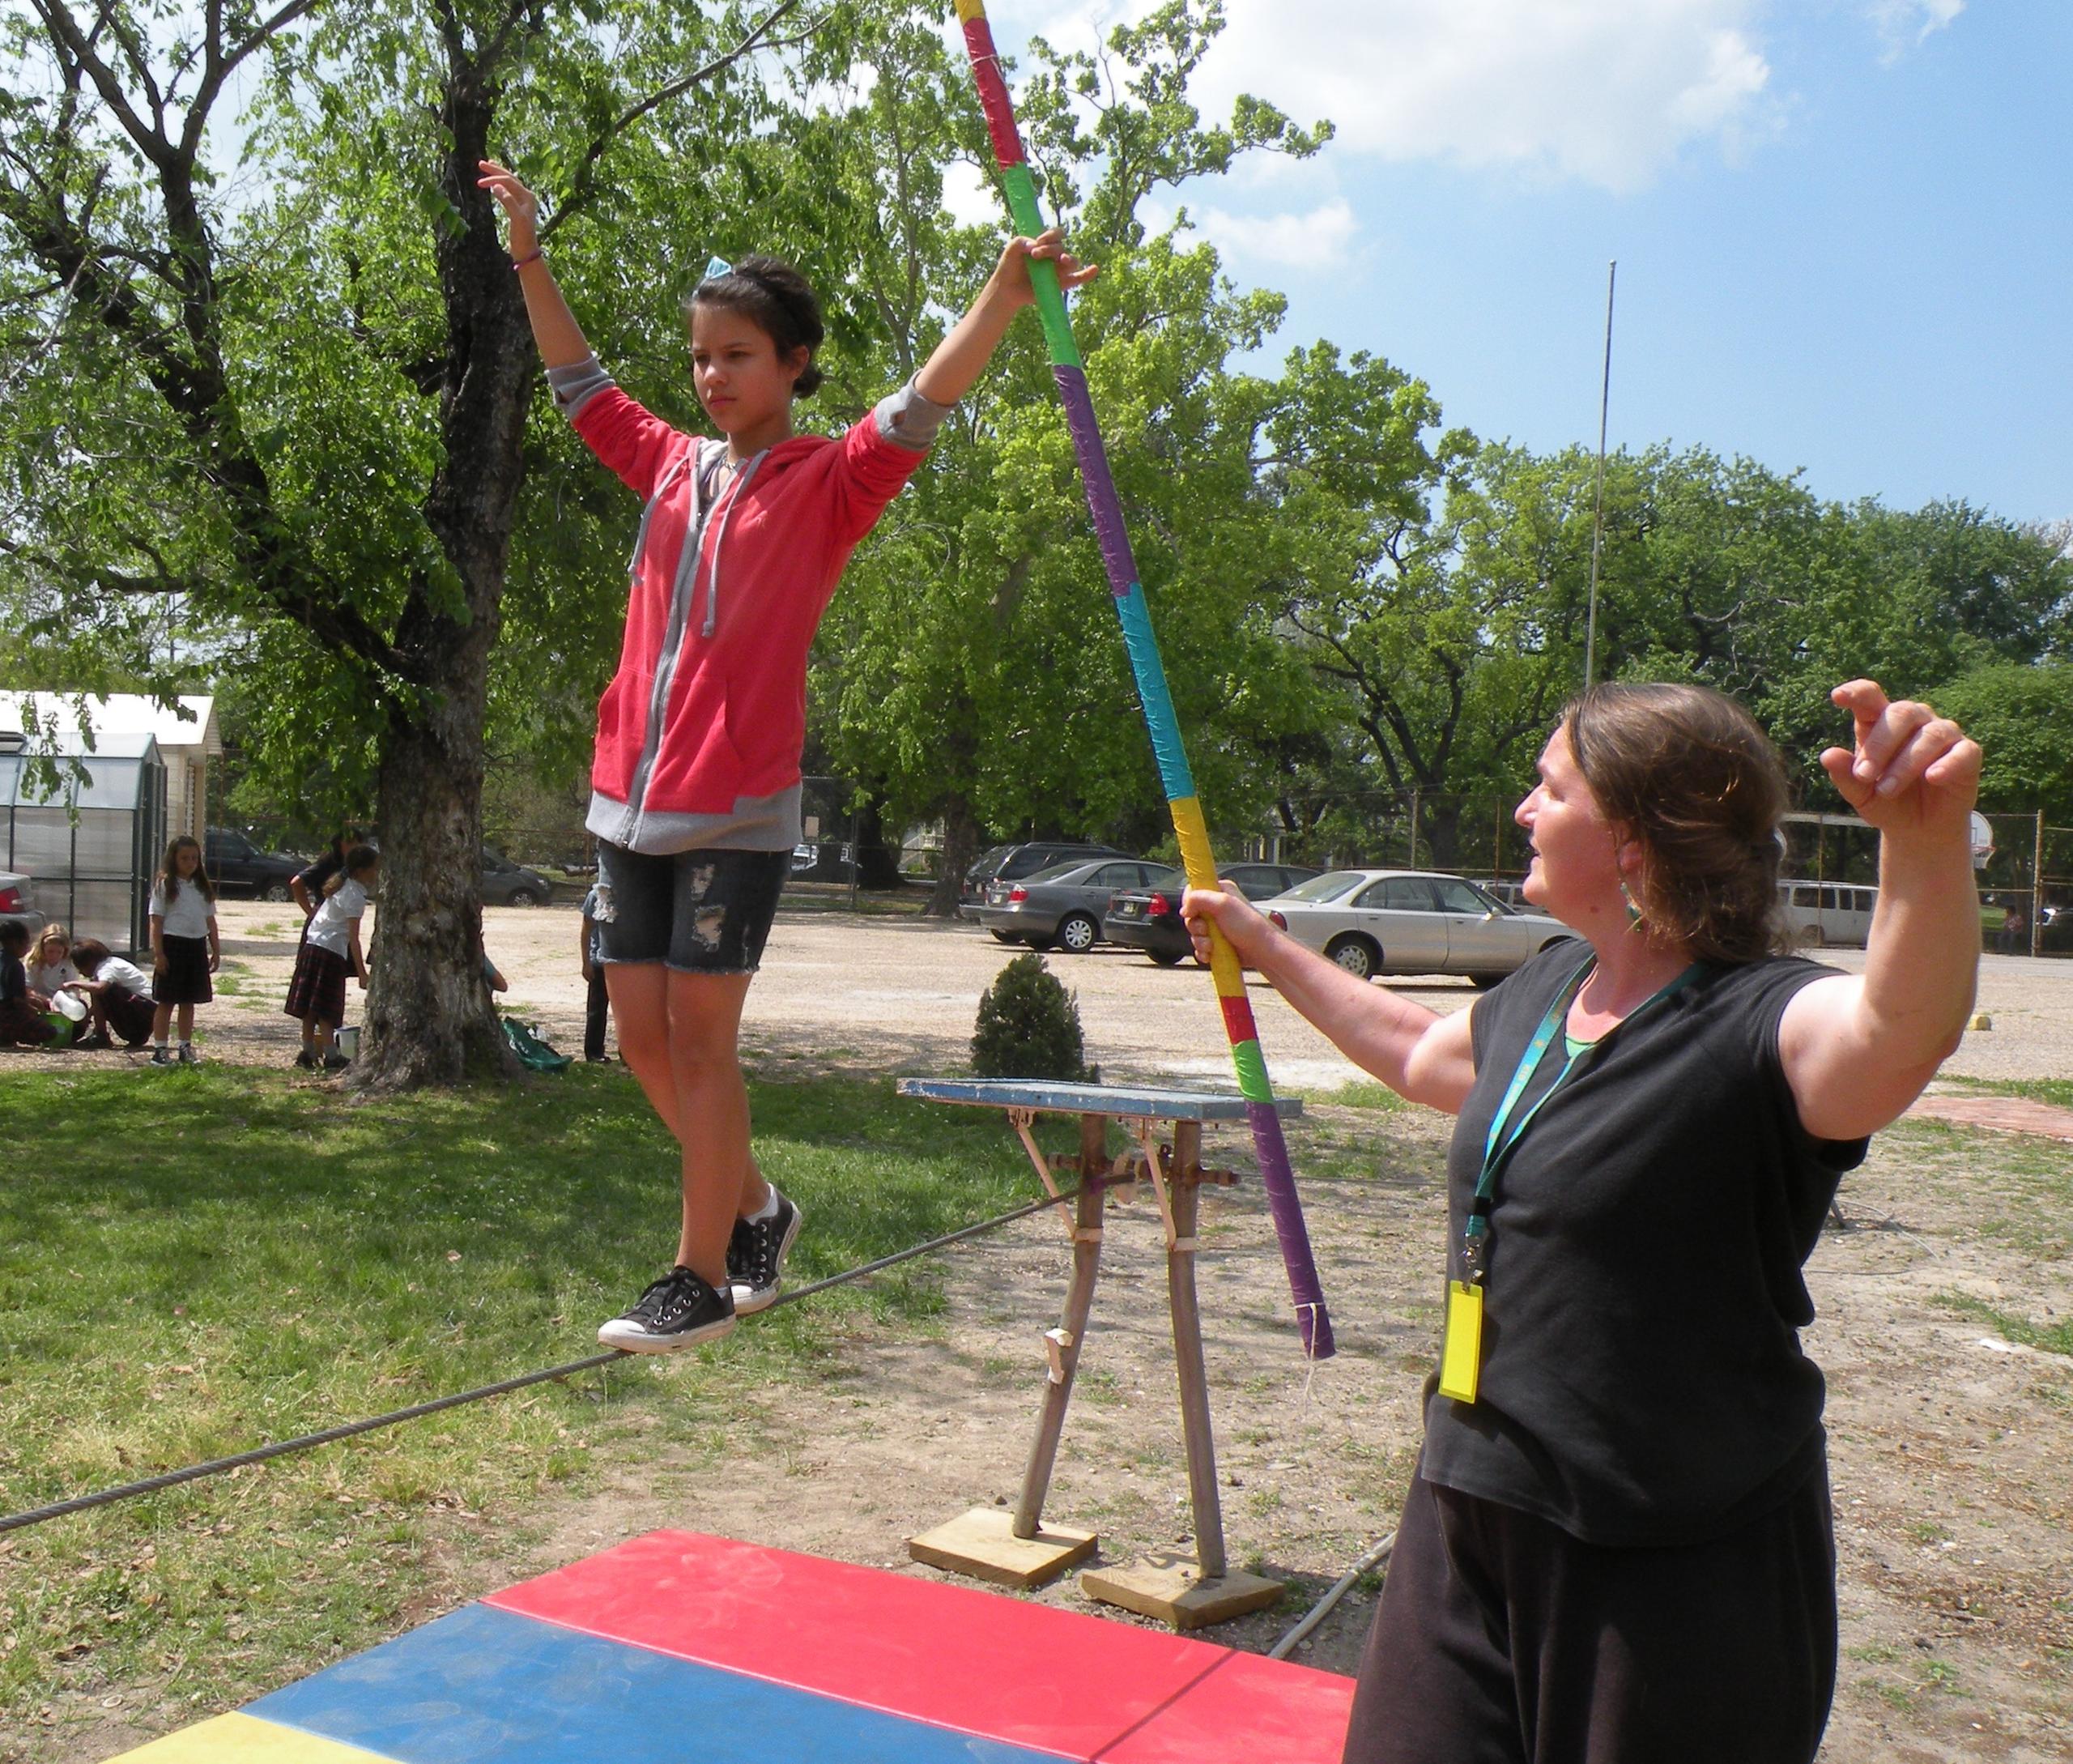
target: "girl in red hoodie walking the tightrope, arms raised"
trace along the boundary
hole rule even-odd
[[[850,551],[1034,301],[1030,259],[1082,269],[1057,232],[1014,238],[929,363],[840,439],[796,435],[821,386],[821,313],[773,257],[715,263],[686,303],[699,404],[721,439],[651,417],[597,365],[541,257],[533,193],[483,162],[556,402],[643,502],[620,667],[597,707],[589,829],[599,960],[620,1053],[682,1146],[676,1264],[597,1331],[659,1354],[777,1296],[798,1206],[748,1148],[742,1001],[800,827],[806,651]]]

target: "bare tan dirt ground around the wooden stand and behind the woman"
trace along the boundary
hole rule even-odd
[[[292,908],[226,906],[234,991],[203,1016],[209,1057],[290,1059],[296,1032],[280,1016],[290,924]],[[512,978],[512,1005],[576,1051],[576,916],[489,912],[487,943]],[[952,1072],[978,991],[1007,954],[968,927],[788,912],[750,993],[748,1057],[773,1078],[790,1061]],[[1105,1078],[1227,1076],[1215,999],[1192,966],[1159,970],[1105,951],[1053,958],[1053,968],[1078,991],[1088,1057]],[[1474,997],[1447,980],[1405,991],[1443,1009]],[[1391,1530],[1416,1455],[1418,1389],[1439,1327],[1445,1123],[1331,1105],[1327,1092],[1352,1068],[1269,989],[1254,989],[1254,1009],[1277,1080],[1312,1099],[1312,1157],[1358,1171],[1304,1177],[1298,1157],[1339,1333],[1339,1356],[1306,1368],[1250,1146],[1225,1132],[1206,1159],[1248,1175],[1209,1192],[1200,1256],[1229,1553],[1314,1592]],[[2073,964],[1986,958],[1982,1009],[1994,1026],[1967,1039],[1951,1072],[2073,1076]],[[1936,1123],[1882,1136],[1845,1186],[1849,1229],[1826,1233],[1810,1264],[1820,1320],[1806,1339],[1830,1385],[1843,1606],[1828,1764],[2073,1758],[2073,1360],[2005,1341],[1951,1304],[1969,1298],[2038,1320],[2073,1314],[2063,1217],[2038,1221],[2042,1244],[1978,1229],[1980,1196],[2017,1179],[2023,1159],[2065,1159],[2063,1146],[2040,1144]],[[1186,1548],[1148,1200],[1113,1206],[1103,1256],[1047,1513],[1099,1526],[1109,1559]],[[543,1515],[543,1534],[456,1550],[454,1596],[653,1526],[929,1573],[906,1561],[912,1532],[1014,1497],[1066,1254],[1055,1219],[1039,1215],[939,1267],[952,1300],[939,1333],[842,1339],[837,1376],[750,1393],[701,1459],[628,1463],[605,1488]],[[1039,1596],[1092,1609],[1070,1580]],[[1352,1671],[1372,1600],[1372,1582],[1362,1584],[1296,1658]],[[1289,1621],[1267,1613],[1213,1633],[1267,1648]]]

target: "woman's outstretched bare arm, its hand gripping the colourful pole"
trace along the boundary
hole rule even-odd
[[[1412,1103],[1449,1115],[1461,1113],[1476,1082],[1470,1012],[1439,1016],[1385,987],[1354,978],[1337,962],[1327,962],[1277,931],[1229,885],[1223,891],[1188,889],[1182,895],[1182,916],[1200,960],[1209,960],[1209,924],[1215,924],[1238,960],[1258,968],[1362,1072],[1372,1072]]]

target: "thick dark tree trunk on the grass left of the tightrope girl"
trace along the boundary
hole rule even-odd
[[[537,357],[489,197],[475,187],[493,112],[493,87],[456,60],[442,187],[464,224],[435,234],[444,460],[425,497],[452,580],[415,582],[396,630],[425,684],[392,703],[381,744],[379,949],[357,1074],[379,1090],[516,1072],[483,985],[483,719]]]

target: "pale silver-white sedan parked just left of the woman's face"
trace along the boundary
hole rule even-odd
[[[1298,943],[1345,972],[1468,974],[1478,987],[1575,933],[1513,912],[1461,877],[1432,871],[1327,871],[1262,904]]]

